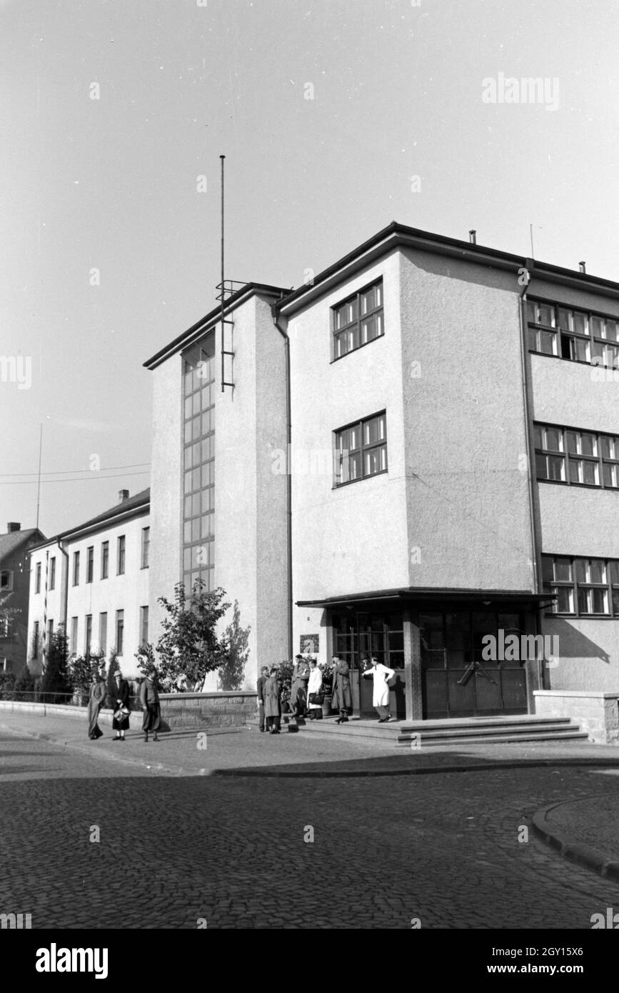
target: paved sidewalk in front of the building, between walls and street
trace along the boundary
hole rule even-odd
[[[102,728],[103,730],[103,728]],[[177,730],[145,744],[141,731],[126,743],[111,728],[96,742],[74,718],[0,713],[0,733],[27,734],[123,765],[177,776],[368,777],[482,771],[523,766],[598,767],[619,774],[619,749],[570,742],[427,746],[398,749],[374,738],[289,733],[261,734],[255,728]]]

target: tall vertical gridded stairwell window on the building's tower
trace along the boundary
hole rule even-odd
[[[196,579],[214,589],[215,335],[183,356],[183,563],[186,593]]]

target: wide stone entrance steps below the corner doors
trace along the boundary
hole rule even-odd
[[[286,722],[282,730],[310,731],[344,735],[351,738],[375,738],[385,744],[411,748],[429,745],[508,744],[510,742],[581,741],[588,735],[568,717],[536,717],[523,714],[515,717],[467,717],[436,721],[377,721],[352,719],[335,724],[334,718],[321,721]]]

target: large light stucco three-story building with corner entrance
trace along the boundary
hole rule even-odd
[[[616,691],[618,356],[619,284],[397,223],[247,284],[146,363],[151,614],[201,575],[248,686],[337,653],[362,713],[372,654],[408,718]]]

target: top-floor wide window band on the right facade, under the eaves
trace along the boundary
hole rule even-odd
[[[619,320],[558,304],[527,301],[529,348],[569,361],[619,366]]]

